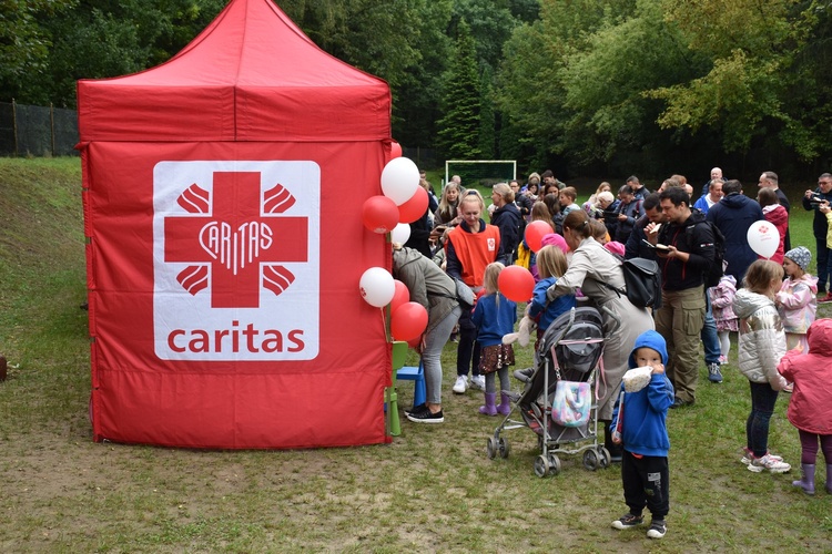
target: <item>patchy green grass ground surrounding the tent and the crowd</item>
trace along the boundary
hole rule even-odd
[[[0,351],[10,363],[0,383],[2,552],[832,552],[822,482],[809,497],[791,486],[795,471],[739,463],[750,401],[735,349],[724,383],[710,384],[702,367],[697,404],[669,416],[671,512],[660,542],[646,529],[610,529],[626,511],[615,466],[590,472],[565,456],[559,475],[538,479],[536,435],[525,429],[506,433],[507,460],[488,460],[497,420],[477,414],[480,393],[450,393],[454,345],[446,423],[404,420],[388,445],[93,443],[79,160],[0,160]],[[814,250],[811,214],[799,206],[791,233]],[[529,360],[518,349],[518,366]],[[407,406],[410,383],[398,389]],[[770,443],[798,466],[788,401],[778,401]]]

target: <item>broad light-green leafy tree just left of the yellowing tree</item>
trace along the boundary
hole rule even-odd
[[[686,45],[655,0],[639,0],[630,17],[597,29],[587,48],[571,53],[558,72],[566,117],[554,141],[556,152],[569,152],[579,164],[611,162],[621,154],[628,164],[641,164],[641,151],[663,152],[672,136],[658,127],[661,103],[648,93],[701,70],[704,60]]]

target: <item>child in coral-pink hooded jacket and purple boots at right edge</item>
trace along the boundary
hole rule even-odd
[[[818,440],[826,460],[826,492],[832,494],[832,319],[819,319],[806,332],[809,353],[790,350],[778,372],[794,382],[787,416],[798,428],[803,476],[793,481],[806,494],[814,494],[814,463]]]

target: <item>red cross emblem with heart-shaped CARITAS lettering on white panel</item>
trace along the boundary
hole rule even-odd
[[[192,295],[210,278],[212,308],[257,308],[261,284],[280,295],[295,279],[280,263],[307,261],[307,218],[278,215],[295,198],[281,184],[261,198],[260,182],[258,172],[214,172],[213,198],[193,184],[176,201],[203,215],[165,217],[164,260],[193,264],[176,276]]]

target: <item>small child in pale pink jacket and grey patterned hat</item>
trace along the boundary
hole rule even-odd
[[[814,321],[818,311],[818,277],[806,273],[812,253],[805,246],[798,246],[785,253],[783,270],[785,279],[774,302],[783,320],[785,348],[800,346],[803,353],[809,351],[806,330]]]

